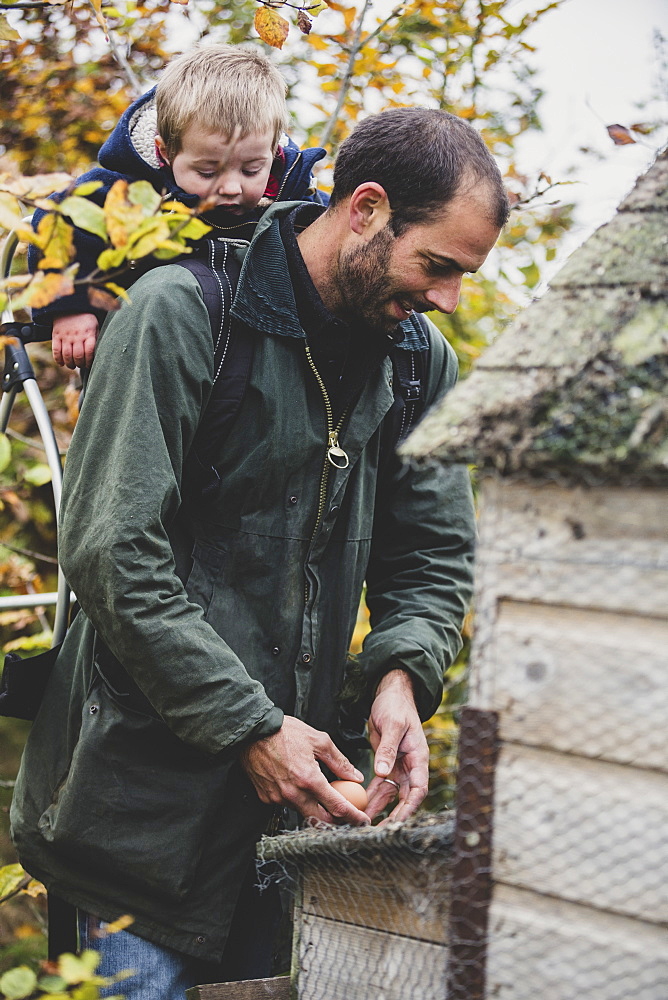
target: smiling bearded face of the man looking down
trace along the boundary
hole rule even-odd
[[[395,237],[389,225],[339,257],[340,312],[390,332],[411,312],[452,313],[464,274],[477,271],[499,236],[484,198],[458,195],[433,221]]]

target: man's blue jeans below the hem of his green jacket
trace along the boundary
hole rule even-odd
[[[271,976],[273,944],[280,917],[277,886],[271,885],[259,893],[249,879],[237,904],[220,963],[191,958],[145,941],[129,931],[98,936],[99,931],[104,932],[104,921],[81,910],[79,947],[101,953],[98,972],[102,976],[130,969],[135,971],[131,979],[101,990],[101,997],[120,994],[126,1000],[184,1000],[185,991],[191,986]]]

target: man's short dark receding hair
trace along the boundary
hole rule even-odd
[[[395,236],[480,181],[488,187],[490,221],[500,228],[508,219],[508,196],[491,153],[468,122],[447,111],[393,108],[360,122],[337,154],[330,206],[366,181],[385,189]]]

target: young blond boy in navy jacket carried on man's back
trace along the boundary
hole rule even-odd
[[[80,182],[102,181],[90,196],[100,205],[119,178],[148,180],[156,191],[189,206],[215,199],[202,216],[214,234],[250,239],[272,201],[327,201],[311,173],[325,150],[299,150],[283,135],[285,89],[278,70],[251,49],[209,45],[179,56],[158,86],[123,114],[100,149],[101,167]],[[35,213],[35,225],[42,214]],[[75,245],[81,278],[95,269],[103,243],[75,230]],[[29,261],[34,270],[35,248]],[[160,263],[142,258],[114,280],[127,286]],[[90,366],[104,316],[91,307],[85,286],[34,312],[38,322],[52,324],[53,356],[68,368]]]

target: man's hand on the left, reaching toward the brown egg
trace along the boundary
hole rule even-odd
[[[325,823],[339,821],[362,826],[369,822],[365,813],[331,787],[318,761],[338,778],[361,781],[363,775],[327,733],[291,715],[284,717],[277,733],[246,747],[240,759],[262,802],[291,806],[302,816]]]

